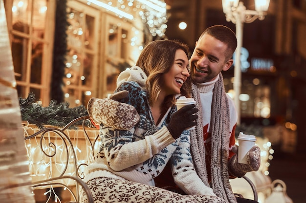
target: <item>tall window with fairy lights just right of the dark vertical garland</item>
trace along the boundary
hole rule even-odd
[[[77,1],[67,4],[67,55],[63,87],[71,107],[87,105],[95,93],[99,11]]]

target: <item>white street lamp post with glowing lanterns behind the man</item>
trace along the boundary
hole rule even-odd
[[[237,48],[235,51],[235,69],[234,69],[234,102],[237,108],[238,120],[237,125],[240,124],[240,88],[241,88],[241,68],[240,55],[243,38],[243,23],[251,23],[257,18],[264,19],[266,11],[268,10],[270,0],[255,0],[255,11],[247,10],[242,1],[239,0],[222,0],[223,12],[226,20],[232,21],[236,24]]]

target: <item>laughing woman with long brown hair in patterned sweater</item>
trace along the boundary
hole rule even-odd
[[[154,187],[153,178],[175,150],[181,149],[180,143],[189,140],[185,129],[197,124],[195,105],[175,110],[179,95],[191,97],[187,55],[188,49],[182,43],[156,40],[144,48],[136,66],[118,76],[115,92],[129,92],[118,101],[131,105],[139,115],[139,121],[130,129],[121,128],[121,123],[108,125],[109,120],[99,123],[100,114],[95,111],[101,109],[101,103],[97,99],[89,101],[88,113],[100,125],[102,139],[100,152],[87,166],[85,178],[96,203],[221,202],[218,197],[183,196]],[[116,112],[120,116],[121,111]]]

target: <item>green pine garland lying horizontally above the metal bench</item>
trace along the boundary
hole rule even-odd
[[[64,127],[70,121],[88,115],[83,105],[69,108],[68,102],[57,104],[55,100],[52,100],[49,106],[43,107],[35,103],[35,95],[32,92],[25,99],[20,97],[19,104],[22,120],[35,124],[40,129],[43,129],[44,125]]]

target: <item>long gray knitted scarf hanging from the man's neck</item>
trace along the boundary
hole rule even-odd
[[[198,108],[197,128],[191,130],[191,151],[194,158],[197,174],[207,186],[207,168],[205,165],[205,148],[203,140],[202,107],[197,86],[192,84],[192,94]],[[211,187],[215,194],[227,203],[237,203],[229,183],[227,168],[228,146],[229,146],[229,106],[223,85],[223,76],[219,74],[219,80],[215,83],[213,90],[211,111],[211,133],[212,133],[212,160],[211,160]]]

